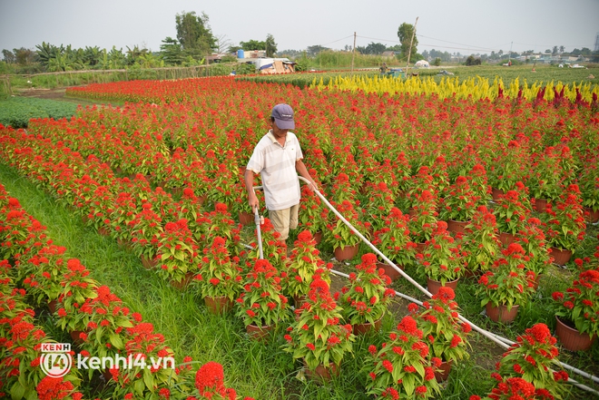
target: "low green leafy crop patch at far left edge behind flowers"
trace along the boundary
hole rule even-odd
[[[33,118],[70,118],[77,111],[74,102],[57,102],[33,97],[11,97],[0,101],[0,124],[26,128]]]

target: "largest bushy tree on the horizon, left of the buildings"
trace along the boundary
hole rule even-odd
[[[208,24],[208,15],[195,12],[177,14],[177,39],[182,45],[183,51],[198,59],[205,54],[210,54],[216,48],[216,41]]]

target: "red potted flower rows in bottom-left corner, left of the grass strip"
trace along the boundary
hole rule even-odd
[[[148,361],[174,356],[165,345],[164,337],[153,332],[152,324],[144,322],[139,313],[130,312],[110,288],[90,278],[89,270],[78,259],[66,259],[65,249],[51,242],[43,244],[40,240],[46,239],[44,228],[36,229],[39,223],[26,214],[18,200],[9,197],[3,187],[0,190],[3,191],[1,211],[5,216],[0,226],[1,249],[3,258],[7,258],[2,261],[2,297],[3,304],[8,305],[3,307],[6,321],[3,337],[8,340],[3,346],[12,355],[5,357],[2,365],[12,366],[7,376],[14,376],[15,382],[9,379],[5,384],[10,385],[13,398],[31,398],[34,390],[39,398],[47,399],[83,396],[74,386],[81,382],[83,371],[72,369],[60,378],[45,376],[40,367],[40,351],[41,343],[49,340],[43,331],[34,328],[34,312],[27,308],[25,299],[33,302],[34,307],[49,307],[55,325],[70,332],[82,356],[119,354],[137,359],[141,355]],[[17,229],[28,233],[27,240],[15,238]],[[7,243],[10,246],[6,246]],[[8,258],[15,260],[15,266],[11,266]],[[26,291],[17,289],[18,286],[25,287]],[[190,357],[184,357],[182,366],[152,366],[145,371],[144,366],[136,363],[129,369],[112,367],[103,373],[113,384],[114,395],[120,398],[155,394],[161,398],[195,396],[201,399],[210,398],[211,393],[237,398],[234,389],[224,387],[222,381],[218,385],[211,383],[211,376],[219,374],[218,368],[202,367],[192,376],[192,364]],[[222,374],[222,367],[220,371]],[[89,369],[87,378],[91,379],[92,375],[93,369]],[[25,378],[17,379],[19,376]],[[178,384],[173,386],[173,382]],[[173,392],[174,387],[178,388],[177,394]]]

